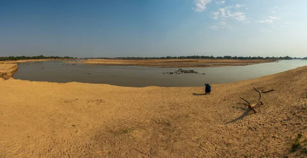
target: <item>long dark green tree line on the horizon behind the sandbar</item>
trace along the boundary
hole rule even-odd
[[[285,57],[238,57],[238,56],[199,56],[199,55],[194,55],[194,56],[167,56],[167,57],[115,57],[115,58],[85,58],[85,59],[241,59],[241,60],[251,60],[251,59],[280,59],[280,60],[291,60],[291,59],[307,59],[305,58],[292,58],[289,56]]]

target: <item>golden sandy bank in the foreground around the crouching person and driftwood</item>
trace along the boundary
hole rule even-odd
[[[0,80],[0,157],[282,157],[307,134],[307,66],[203,87]],[[239,97],[255,101],[257,114]],[[290,157],[294,154],[290,153]]]

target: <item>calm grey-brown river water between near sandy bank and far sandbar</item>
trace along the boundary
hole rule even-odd
[[[282,60],[247,66],[189,67],[199,74],[166,74],[180,68],[104,66],[41,61],[18,63],[14,79],[48,82],[102,83],[119,86],[204,86],[258,78],[307,65],[307,60]],[[165,74],[163,74],[165,73]],[[206,75],[203,75],[206,74]]]

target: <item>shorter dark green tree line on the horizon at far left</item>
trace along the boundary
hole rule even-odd
[[[69,56],[64,56],[64,57],[59,57],[59,56],[9,56],[9,57],[0,57],[0,61],[6,61],[6,60],[27,60],[27,59],[76,59],[74,57],[69,57]]]

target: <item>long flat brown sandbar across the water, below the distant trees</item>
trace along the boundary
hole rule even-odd
[[[256,63],[274,62],[275,60],[232,60],[232,59],[163,59],[163,60],[120,60],[89,59],[82,61],[65,61],[71,63],[95,65],[137,65],[157,67],[208,67],[208,66],[243,66]]]

